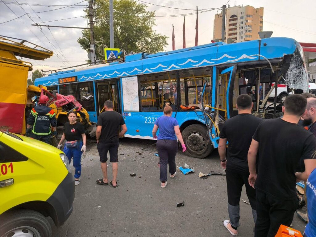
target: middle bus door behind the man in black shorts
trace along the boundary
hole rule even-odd
[[[116,112],[120,111],[119,101],[118,101],[118,87],[116,81],[111,82],[98,82],[98,115],[104,112],[104,102],[106,100],[113,101],[113,110]]]

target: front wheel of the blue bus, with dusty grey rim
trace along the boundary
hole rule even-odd
[[[207,129],[205,125],[192,124],[187,126],[182,137],[186,146],[185,153],[195,158],[205,158],[213,150],[212,143],[208,143]]]

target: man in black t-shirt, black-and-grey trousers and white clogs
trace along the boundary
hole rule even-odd
[[[221,159],[221,166],[226,168],[228,215],[229,220],[224,221],[228,231],[237,235],[239,227],[239,202],[242,186],[245,185],[249,199],[253,220],[256,223],[256,191],[249,185],[249,168],[247,153],[252,136],[263,119],[251,114],[252,99],[247,94],[237,97],[236,108],[238,115],[225,121],[219,135],[218,153]],[[226,143],[228,141],[227,156]],[[227,159],[226,159],[227,158]],[[227,160],[227,161],[226,161]]]

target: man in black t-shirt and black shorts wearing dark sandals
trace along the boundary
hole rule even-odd
[[[110,184],[117,187],[116,177],[118,174],[118,149],[119,137],[123,137],[127,131],[122,115],[113,111],[113,102],[104,102],[105,112],[100,113],[97,123],[96,138],[97,148],[100,155],[103,178],[97,180],[97,184],[108,185],[107,180],[107,152],[110,152],[110,162],[112,162],[113,179]],[[119,133],[119,128],[121,132]]]

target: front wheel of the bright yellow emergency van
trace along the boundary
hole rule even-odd
[[[42,214],[15,210],[0,218],[0,237],[52,237],[52,227]]]

